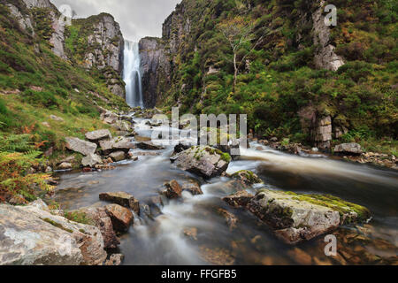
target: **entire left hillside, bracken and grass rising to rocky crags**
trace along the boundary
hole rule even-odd
[[[48,187],[41,179],[48,176],[27,173],[49,171],[49,165],[56,169],[65,157],[66,136],[84,137],[99,128],[114,132],[103,125],[100,112],[128,109],[122,98],[124,89],[120,92],[113,86],[121,80],[119,57],[110,56],[102,68],[94,57],[95,68],[88,72],[87,65],[79,61],[86,50],[73,48],[71,32],[58,25],[59,15],[47,0],[0,1],[0,201],[12,195],[34,198],[31,183],[39,181]],[[113,25],[119,42],[111,48],[119,56],[123,37],[119,24],[110,18],[80,19],[79,25],[88,26],[98,19],[106,21],[108,30]],[[71,27],[72,34],[75,27]],[[94,29],[85,32],[89,36]],[[107,35],[104,41],[114,40]]]

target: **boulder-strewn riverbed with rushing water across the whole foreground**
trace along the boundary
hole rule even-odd
[[[31,212],[25,222],[0,220],[1,264],[397,263],[396,172],[286,154],[277,141],[253,141],[239,158],[188,141],[158,145],[153,113],[115,115],[104,122],[123,117],[130,134],[67,141],[85,158],[83,172],[59,173],[51,198],[61,210],[0,206],[15,218]],[[327,234],[338,240],[335,256],[325,255]]]

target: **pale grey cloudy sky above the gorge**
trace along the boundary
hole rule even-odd
[[[109,12],[119,22],[124,37],[138,42],[161,36],[162,24],[181,0],[50,0],[58,8],[69,4],[78,18]]]

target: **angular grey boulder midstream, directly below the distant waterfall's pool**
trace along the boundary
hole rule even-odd
[[[231,156],[219,149],[195,146],[174,155],[170,160],[181,170],[210,179],[226,172]]]

